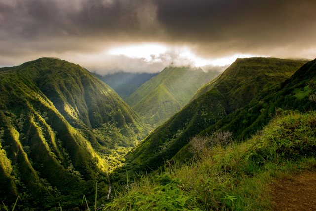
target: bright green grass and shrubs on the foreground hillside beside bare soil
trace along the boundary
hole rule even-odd
[[[316,103],[316,102],[314,102]],[[198,159],[142,175],[107,206],[115,211],[258,211],[273,208],[270,184],[316,165],[316,112],[277,110],[248,141],[211,144]]]

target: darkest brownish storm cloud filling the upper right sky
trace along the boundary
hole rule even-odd
[[[315,0],[156,0],[169,39],[205,52],[315,46]],[[303,46],[302,46],[303,45]]]

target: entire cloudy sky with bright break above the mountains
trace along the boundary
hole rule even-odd
[[[316,57],[316,0],[1,0],[0,67],[57,57],[107,74]]]

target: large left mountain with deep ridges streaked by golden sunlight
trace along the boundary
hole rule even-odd
[[[70,209],[95,180],[105,196],[109,156],[147,134],[106,84],[63,60],[0,68],[0,92],[0,201],[21,194],[19,210]]]

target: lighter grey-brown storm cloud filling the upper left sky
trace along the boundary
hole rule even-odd
[[[157,29],[147,18],[151,8],[146,0],[4,0],[0,53],[92,50],[100,42],[143,41],[145,28]]]

